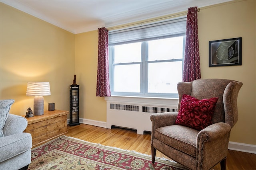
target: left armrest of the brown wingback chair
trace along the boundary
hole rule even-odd
[[[174,125],[178,112],[154,113],[150,116],[152,121],[152,131],[159,127]]]

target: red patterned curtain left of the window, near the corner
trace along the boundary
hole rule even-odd
[[[108,29],[105,27],[98,29],[98,71],[96,96],[111,96],[108,77]]]

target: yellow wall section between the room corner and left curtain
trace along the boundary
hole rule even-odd
[[[75,35],[76,82],[80,84],[79,117],[106,122],[106,101],[96,97],[98,31]]]

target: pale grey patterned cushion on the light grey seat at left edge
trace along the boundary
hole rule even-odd
[[[3,128],[13,103],[13,99],[0,100],[0,137],[4,136]]]

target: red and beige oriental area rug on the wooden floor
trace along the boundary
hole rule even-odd
[[[28,170],[185,170],[162,158],[66,137],[32,149]]]

